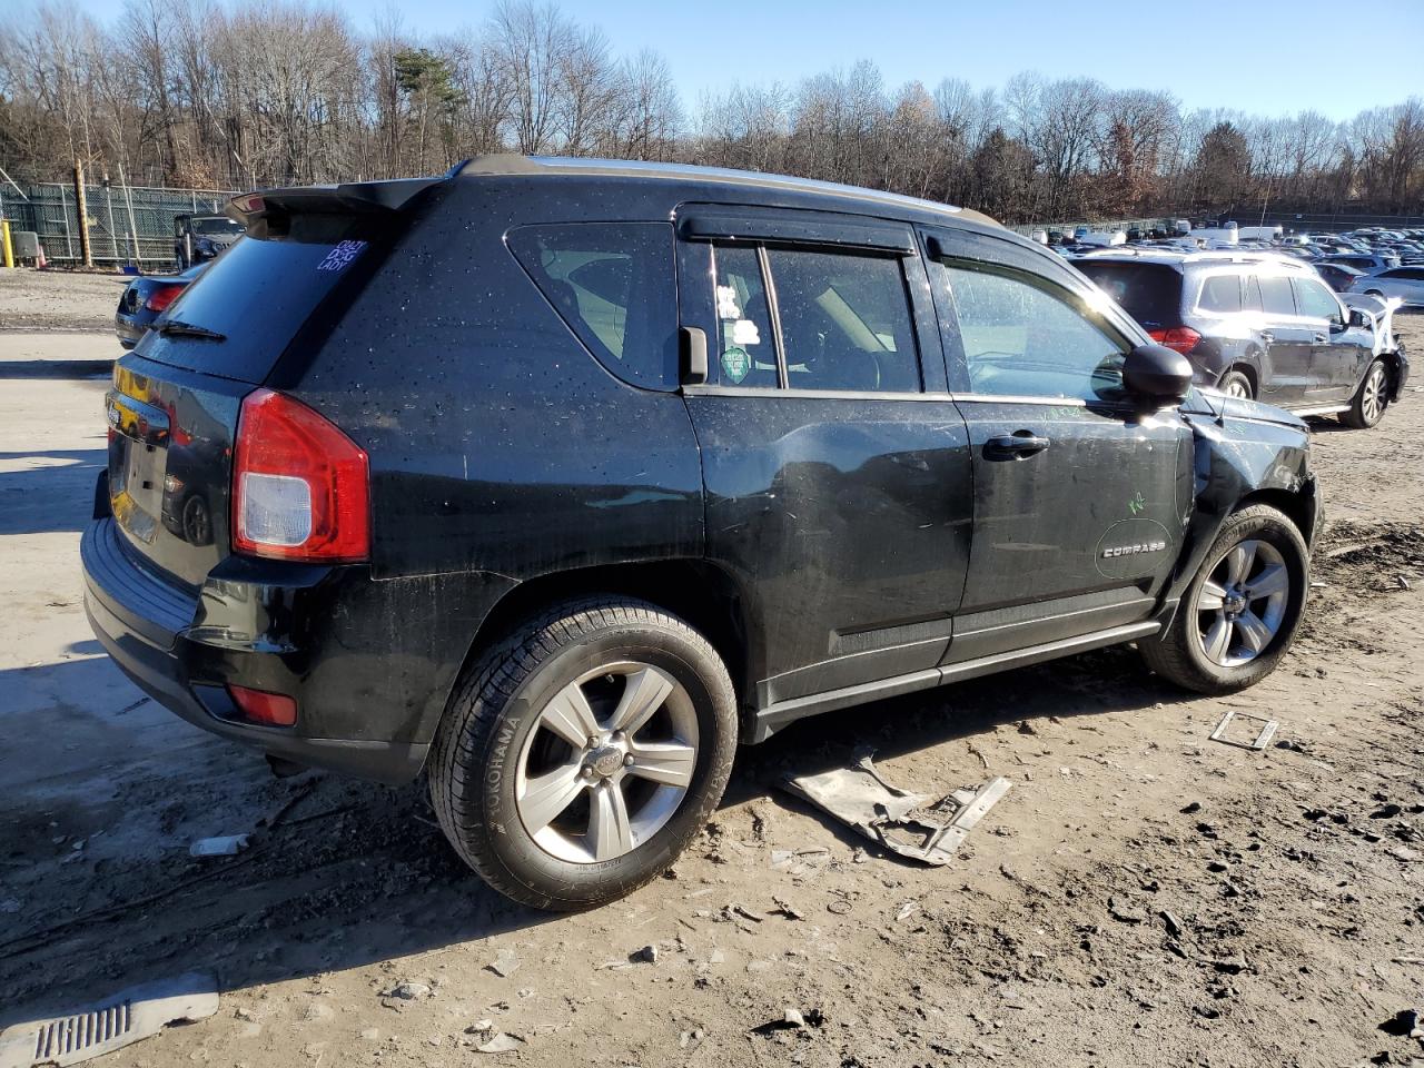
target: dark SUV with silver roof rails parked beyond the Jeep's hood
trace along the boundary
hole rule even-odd
[[[1376,355],[1370,318],[1346,308],[1309,263],[1246,252],[1105,252],[1075,266],[1153,339],[1185,353],[1196,382],[1302,416],[1373,427],[1408,377]]]

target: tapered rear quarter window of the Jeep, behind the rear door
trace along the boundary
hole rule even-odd
[[[510,251],[578,340],[645,389],[678,387],[678,293],[666,222],[518,226]]]

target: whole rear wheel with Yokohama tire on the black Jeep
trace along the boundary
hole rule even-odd
[[[644,601],[557,605],[461,676],[430,758],[456,852],[535,909],[614,901],[706,824],[736,750],[712,645]]]

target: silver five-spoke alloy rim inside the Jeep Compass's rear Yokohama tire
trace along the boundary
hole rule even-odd
[[[544,705],[520,752],[514,803],[550,856],[615,860],[672,819],[696,762],[698,716],[686,689],[649,664],[611,664]]]

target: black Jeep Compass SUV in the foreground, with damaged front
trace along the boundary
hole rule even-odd
[[[506,157],[232,214],[115,366],[90,621],[275,770],[424,770],[520,901],[652,879],[803,716],[1296,631],[1304,426],[981,215]]]

